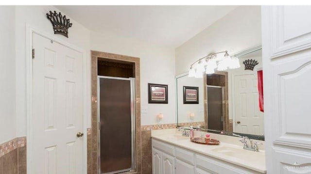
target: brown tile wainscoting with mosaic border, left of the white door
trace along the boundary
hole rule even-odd
[[[0,144],[0,174],[26,173],[26,137]]]

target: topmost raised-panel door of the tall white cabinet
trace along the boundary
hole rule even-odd
[[[311,47],[309,6],[271,6],[269,39],[271,59]]]

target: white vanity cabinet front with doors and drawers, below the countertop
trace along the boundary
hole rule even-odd
[[[153,174],[260,174],[154,138],[152,156]]]

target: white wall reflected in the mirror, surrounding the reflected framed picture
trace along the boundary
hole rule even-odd
[[[190,78],[188,75],[177,79],[178,123],[204,122],[203,84],[203,79]],[[199,104],[184,104],[184,86],[199,87]],[[190,120],[191,112],[194,113],[193,120]]]

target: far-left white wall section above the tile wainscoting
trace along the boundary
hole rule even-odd
[[[16,137],[15,7],[0,6],[0,144]]]

